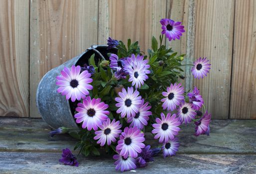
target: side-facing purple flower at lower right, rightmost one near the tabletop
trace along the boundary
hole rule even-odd
[[[196,125],[196,133],[195,136],[199,136],[202,134],[209,134],[210,133],[210,127],[209,124],[211,122],[211,114],[209,114],[207,111],[205,112],[204,116],[200,118],[199,121],[195,121]]]

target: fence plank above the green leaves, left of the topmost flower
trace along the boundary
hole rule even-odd
[[[125,44],[128,38],[138,40],[145,53],[151,47],[152,35],[159,40],[159,21],[166,17],[166,0],[109,0],[108,6],[110,37]]]

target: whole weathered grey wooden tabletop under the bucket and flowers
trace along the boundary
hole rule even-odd
[[[58,162],[61,149],[72,149],[75,139],[68,135],[50,138],[50,128],[41,119],[0,119],[0,173],[78,174],[115,172],[112,157],[78,156],[79,167]],[[256,120],[213,120],[211,135],[194,137],[193,126],[182,126],[177,156],[155,157],[139,174],[183,173],[216,174],[256,171]],[[147,143],[157,144],[148,136]],[[74,152],[77,154],[77,152]]]

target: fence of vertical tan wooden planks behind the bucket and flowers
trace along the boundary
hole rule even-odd
[[[186,33],[168,42],[186,63],[207,56],[198,86],[214,118],[256,119],[256,0],[0,0],[0,115],[40,117],[35,91],[50,69],[108,36],[159,36],[161,18],[182,21]]]

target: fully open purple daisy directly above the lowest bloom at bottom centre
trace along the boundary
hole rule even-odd
[[[116,150],[121,150],[120,155],[127,158],[128,155],[132,158],[136,158],[138,153],[142,152],[142,148],[145,144],[144,134],[140,133],[140,129],[134,128],[124,128],[124,132],[120,135],[120,140],[117,142]]]

